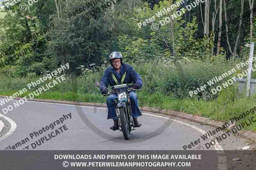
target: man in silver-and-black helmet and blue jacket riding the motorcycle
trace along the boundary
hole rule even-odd
[[[140,89],[142,87],[142,79],[139,74],[130,66],[129,64],[123,63],[123,56],[119,52],[113,52],[109,55],[109,62],[111,66],[109,66],[103,76],[100,79],[100,84],[104,87],[108,88],[108,85],[120,85],[120,84],[129,84],[134,83],[134,89]],[[107,94],[108,89],[100,87],[100,91],[102,94]],[[129,93],[130,100],[132,103],[132,118],[134,122],[134,127],[140,127],[142,124],[138,122],[139,116],[141,116],[141,112],[139,109],[139,101],[136,93],[134,91]],[[110,127],[110,129],[117,130],[118,127],[118,118],[116,116],[116,95],[111,94],[107,98],[107,106],[108,106],[108,118],[113,119],[114,124]]]

